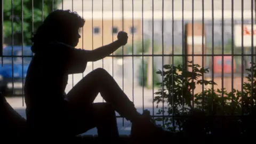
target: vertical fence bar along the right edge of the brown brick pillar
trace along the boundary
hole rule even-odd
[[[204,68],[204,0],[202,0],[202,67]],[[202,74],[202,107],[204,112],[204,73]]]

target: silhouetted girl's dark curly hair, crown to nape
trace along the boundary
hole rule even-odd
[[[58,41],[60,32],[66,28],[78,29],[84,26],[85,20],[82,19],[76,12],[70,10],[56,10],[51,12],[43,24],[38,27],[36,33],[32,34],[31,41],[33,46],[31,50],[36,53],[43,47],[53,41]]]

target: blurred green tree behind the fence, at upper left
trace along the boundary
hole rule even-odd
[[[31,33],[41,25],[42,20],[53,10],[56,10],[61,0],[31,1],[23,0],[23,44],[31,45]],[[44,4],[43,4],[44,3]],[[4,1],[4,40],[7,45],[22,44],[22,1]],[[42,12],[43,9],[43,12]],[[13,21],[13,24],[12,24]],[[12,28],[13,26],[13,28]]]

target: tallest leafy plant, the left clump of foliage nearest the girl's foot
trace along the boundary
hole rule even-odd
[[[192,63],[191,61],[189,62]],[[158,70],[156,73],[163,76],[163,82],[157,83],[163,89],[155,92],[154,102],[167,104],[164,109],[159,109],[158,114],[171,115],[188,115],[192,106],[192,91],[196,85],[201,85],[202,80],[198,79],[204,73],[209,72],[209,69],[199,68],[199,65],[188,65],[193,68],[193,71],[182,70],[182,66],[164,65],[164,70]],[[212,81],[204,81],[204,84],[215,84]],[[168,130],[175,129],[172,117],[157,118],[156,121],[165,121],[163,127]],[[172,127],[174,125],[174,127]],[[173,131],[173,130],[172,130]]]

